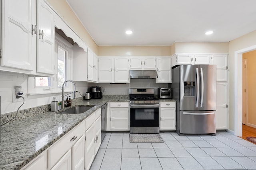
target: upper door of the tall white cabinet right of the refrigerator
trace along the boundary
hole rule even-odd
[[[228,81],[228,55],[212,55],[212,63],[217,67],[217,82]]]

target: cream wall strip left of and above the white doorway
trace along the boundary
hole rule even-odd
[[[229,43],[229,129],[234,131],[234,77],[237,75],[234,75],[234,66],[235,66],[235,59],[234,59],[234,53],[235,51],[239,51],[241,49],[251,47],[253,45],[256,45],[256,30],[252,31],[251,33],[248,33],[246,35],[243,35],[237,39],[234,39],[230,41]],[[242,68],[242,61],[240,62],[241,68]],[[242,81],[242,80],[238,80]],[[242,105],[240,103],[239,105]]]

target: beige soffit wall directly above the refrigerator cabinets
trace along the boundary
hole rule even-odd
[[[228,43],[214,42],[176,42],[172,46],[174,53],[210,53],[210,54],[227,54]]]

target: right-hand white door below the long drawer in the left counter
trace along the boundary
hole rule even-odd
[[[72,146],[72,170],[84,170],[84,135]]]

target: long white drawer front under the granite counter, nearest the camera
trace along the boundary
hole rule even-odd
[[[74,127],[70,132],[60,138],[50,149],[48,149],[48,167],[52,168],[62,156],[80,139],[84,134],[84,121]]]

